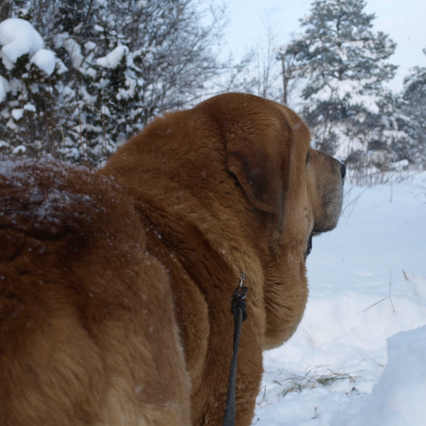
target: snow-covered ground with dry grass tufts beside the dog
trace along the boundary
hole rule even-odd
[[[344,204],[313,241],[299,329],[264,356],[253,425],[426,425],[426,174],[348,185]]]

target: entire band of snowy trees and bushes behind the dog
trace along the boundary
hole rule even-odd
[[[365,1],[313,1],[290,43],[268,32],[238,63],[218,59],[226,8],[214,4],[2,1],[0,154],[100,165],[163,111],[239,91],[295,109],[359,179],[425,168],[426,68],[388,89],[395,43]]]

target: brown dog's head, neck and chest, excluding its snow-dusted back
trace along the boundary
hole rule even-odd
[[[193,425],[222,424],[230,298],[239,273],[246,276],[236,420],[249,425],[262,351],[283,344],[305,309],[310,234],[337,224],[340,163],[310,148],[307,127],[290,109],[224,94],[156,119],[104,173],[135,200],[148,251],[170,274]]]

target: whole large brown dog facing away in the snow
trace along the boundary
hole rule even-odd
[[[342,208],[343,166],[309,143],[290,109],[224,94],[155,119],[112,156],[101,173],[127,195],[75,168],[13,169],[1,425],[222,425],[240,273],[236,422],[249,425],[262,351],[305,308],[311,236]],[[33,182],[12,189],[26,167]]]

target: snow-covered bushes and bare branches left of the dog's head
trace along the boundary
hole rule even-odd
[[[202,25],[196,0],[20,4],[0,23],[0,153],[98,165],[221,72],[221,9]]]

